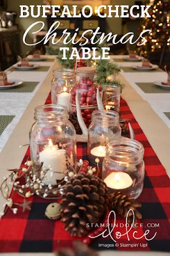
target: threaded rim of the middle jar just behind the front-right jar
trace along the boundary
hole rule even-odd
[[[113,123],[118,123],[118,121],[120,120],[120,115],[116,111],[112,110],[96,110],[93,111],[91,115],[91,120],[92,122],[109,125]]]

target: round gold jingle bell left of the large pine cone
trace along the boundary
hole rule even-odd
[[[45,210],[45,215],[50,220],[58,220],[61,217],[61,205],[58,203],[49,204]]]

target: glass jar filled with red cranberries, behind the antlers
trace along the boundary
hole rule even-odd
[[[75,95],[80,94],[82,118],[87,127],[91,124],[91,114],[97,109],[96,70],[92,67],[80,67],[76,70],[76,84],[71,92],[72,113],[76,113]]]

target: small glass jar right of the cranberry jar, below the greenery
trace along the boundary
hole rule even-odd
[[[120,113],[121,86],[105,84],[102,86],[102,102],[105,109],[111,109]]]

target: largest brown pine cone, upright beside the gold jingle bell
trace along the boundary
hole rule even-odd
[[[108,204],[108,191],[98,177],[79,173],[68,180],[61,201],[61,221],[71,236],[85,236],[104,215]]]

